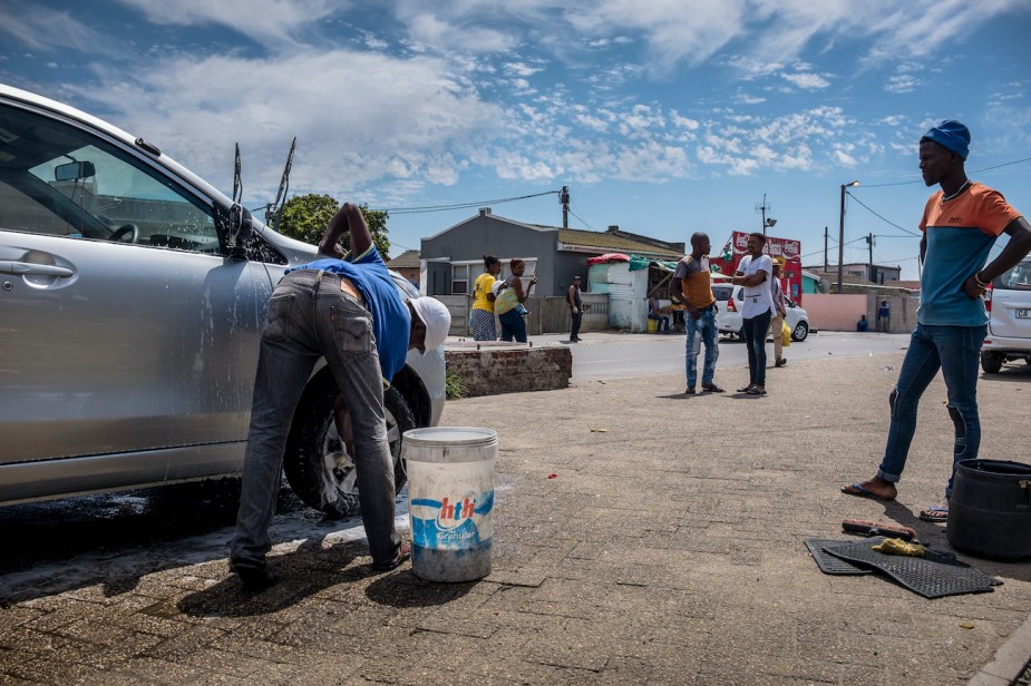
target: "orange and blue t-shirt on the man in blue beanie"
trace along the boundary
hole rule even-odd
[[[927,237],[920,307],[924,325],[984,326],[983,298],[970,298],[963,283],[984,267],[999,235],[1020,217],[998,190],[976,182],[944,200],[938,190],[927,200],[920,228]]]

